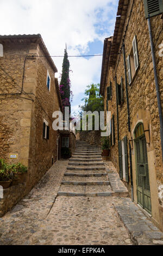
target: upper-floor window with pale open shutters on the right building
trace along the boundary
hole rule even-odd
[[[139,68],[139,57],[137,51],[137,41],[136,35],[133,39],[133,47],[131,48],[131,52],[127,58],[127,71],[128,71],[128,83],[130,84],[133,80],[136,70]]]

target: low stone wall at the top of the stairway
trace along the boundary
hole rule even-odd
[[[78,141],[85,141],[91,145],[101,148],[101,131],[81,131],[77,133]]]

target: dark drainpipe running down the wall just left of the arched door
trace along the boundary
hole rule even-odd
[[[126,99],[127,99],[127,113],[128,113],[128,131],[130,132],[130,109],[129,109],[129,99],[128,99],[128,82],[127,82],[127,69],[126,69],[126,55],[125,48],[123,44],[123,62],[124,62],[124,75],[125,75],[125,84],[126,84]],[[132,154],[131,146],[129,143],[129,159],[130,159],[130,181],[131,181],[131,200],[134,202],[134,191],[133,191],[133,166],[132,166]]]

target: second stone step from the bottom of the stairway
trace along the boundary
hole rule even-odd
[[[64,176],[62,181],[77,181],[77,182],[97,182],[97,181],[109,181],[108,176]]]

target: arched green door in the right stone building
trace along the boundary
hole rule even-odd
[[[136,155],[136,183],[137,203],[150,214],[151,193],[149,186],[149,169],[147,156],[147,143],[143,131],[143,124],[139,124],[135,131],[135,155]]]

